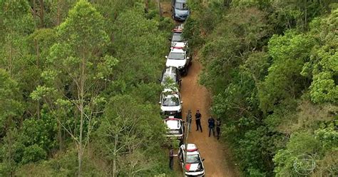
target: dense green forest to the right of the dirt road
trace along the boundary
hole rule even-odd
[[[337,4],[192,0],[190,7],[184,35],[242,174],[337,176]]]

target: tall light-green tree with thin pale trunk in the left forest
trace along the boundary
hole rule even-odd
[[[45,99],[50,108],[75,106],[74,129],[63,127],[76,142],[78,176],[81,176],[83,151],[89,142],[91,121],[98,115],[98,93],[106,82],[105,76],[111,74],[116,59],[104,56],[109,39],[103,29],[103,17],[87,1],[78,1],[69,11],[66,21],[57,28],[57,36],[59,42],[51,47],[48,58],[50,68],[43,73],[49,81],[45,86],[39,86],[31,96],[39,100],[46,92],[54,92],[58,96],[48,101]],[[58,121],[61,123],[60,119]]]

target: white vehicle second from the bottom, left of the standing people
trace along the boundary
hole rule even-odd
[[[184,125],[182,119],[169,116],[165,118],[164,123],[168,127],[167,137],[178,138],[180,142],[183,142]]]

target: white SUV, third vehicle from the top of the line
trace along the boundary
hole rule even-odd
[[[174,46],[173,49],[170,50],[168,56],[165,56],[167,62],[165,66],[174,66],[178,68],[180,74],[187,75],[188,74],[188,66],[190,65],[190,57],[182,47]]]

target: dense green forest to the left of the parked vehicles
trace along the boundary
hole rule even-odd
[[[0,8],[0,176],[171,173],[154,103],[173,23],[155,2]]]

